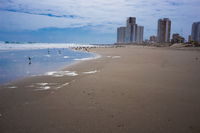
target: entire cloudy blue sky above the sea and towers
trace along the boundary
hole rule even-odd
[[[144,39],[169,18],[171,37],[187,40],[199,7],[200,0],[0,0],[0,41],[112,44],[127,17],[144,26]]]

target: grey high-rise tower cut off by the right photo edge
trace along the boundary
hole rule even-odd
[[[200,22],[192,24],[191,39],[195,42],[200,42]]]

